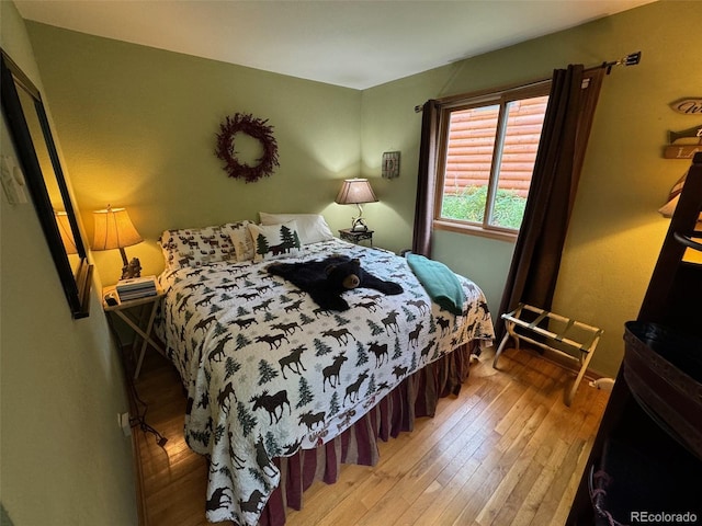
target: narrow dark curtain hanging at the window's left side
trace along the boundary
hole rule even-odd
[[[439,140],[439,105],[429,100],[422,106],[419,173],[415,204],[412,252],[431,258],[431,224],[435,194],[437,142]]]

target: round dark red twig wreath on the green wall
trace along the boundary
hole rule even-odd
[[[275,167],[280,167],[273,127],[267,123],[268,119],[262,121],[248,113],[235,113],[219,126],[215,155],[225,162],[224,169],[230,178],[244,179],[247,183],[253,183],[261,178],[268,178],[273,173]],[[261,144],[263,155],[258,159],[258,164],[251,167],[237,159],[234,150],[236,134],[246,134]]]

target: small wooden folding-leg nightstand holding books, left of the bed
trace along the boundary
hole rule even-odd
[[[117,300],[117,305],[107,305],[105,297],[111,293],[114,293],[114,298]],[[110,321],[110,324],[112,325],[111,315],[117,316],[127,325],[129,325],[129,328],[135,333],[132,351],[136,353],[139,343],[141,345],[141,347],[138,350],[138,358],[136,367],[134,369],[135,380],[139,377],[139,370],[141,369],[141,363],[144,362],[144,355],[146,354],[147,346],[151,345],[161,355],[166,356],[166,353],[163,352],[159,343],[151,338],[154,319],[156,318],[156,310],[163,296],[163,290],[157,289],[155,296],[131,299],[128,301],[120,301],[114,286],[104,287],[102,289],[102,308],[107,315],[107,321]]]

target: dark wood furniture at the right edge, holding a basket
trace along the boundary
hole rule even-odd
[[[624,361],[568,526],[702,524],[702,264],[688,261],[702,249],[701,213],[697,153],[638,317],[624,328]]]

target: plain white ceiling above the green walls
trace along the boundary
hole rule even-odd
[[[14,3],[24,19],[81,33],[366,89],[652,1],[14,0]]]

